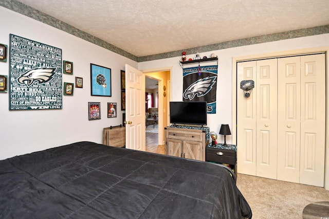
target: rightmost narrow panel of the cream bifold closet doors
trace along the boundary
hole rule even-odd
[[[301,57],[300,183],[324,186],[325,54]]]

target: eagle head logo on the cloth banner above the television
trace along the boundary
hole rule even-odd
[[[216,82],[217,76],[206,77],[197,80],[193,84],[191,84],[184,92],[183,97],[185,99],[192,100],[195,96],[202,97],[210,92],[212,85]]]

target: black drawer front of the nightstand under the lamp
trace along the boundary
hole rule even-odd
[[[235,165],[236,155],[232,150],[206,148],[206,160]]]

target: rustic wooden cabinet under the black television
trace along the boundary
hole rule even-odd
[[[165,127],[166,155],[206,161],[209,127],[171,125]]]

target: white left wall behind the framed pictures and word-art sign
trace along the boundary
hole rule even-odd
[[[0,43],[9,47],[12,33],[61,48],[62,59],[74,64],[74,75],[63,74],[63,83],[83,78],[83,88],[63,96],[62,109],[9,111],[9,92],[0,93],[0,159],[76,141],[101,143],[104,127],[122,123],[120,70],[125,64],[137,68],[137,62],[6,8],[0,7],[0,14],[6,18]],[[0,75],[8,78],[9,62],[0,62]],[[90,63],[112,69],[112,97],[90,96]],[[88,102],[101,102],[100,120],[88,120]],[[107,102],[117,102],[117,118],[107,118]]]

